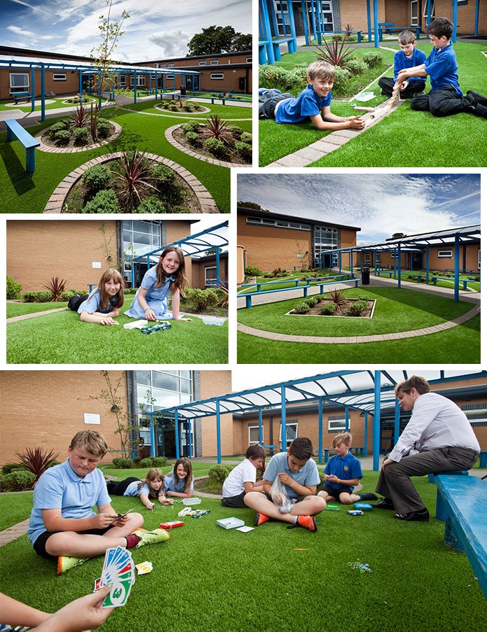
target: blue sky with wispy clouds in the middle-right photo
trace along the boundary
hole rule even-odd
[[[357,245],[480,223],[478,174],[238,174],[237,199],[360,227]]]

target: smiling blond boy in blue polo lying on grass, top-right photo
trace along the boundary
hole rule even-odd
[[[363,129],[360,116],[337,116],[330,110],[331,88],[335,78],[334,66],[317,60],[310,64],[308,85],[294,98],[279,90],[259,89],[259,118],[274,118],[276,123],[300,123],[310,118],[317,129]]]

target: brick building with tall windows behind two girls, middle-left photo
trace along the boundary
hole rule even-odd
[[[121,269],[126,287],[139,287],[149,269],[144,255],[191,235],[198,220],[8,220],[6,272],[22,292],[39,292],[54,276],[67,288],[88,292],[105,269]],[[198,232],[198,231],[197,231]],[[224,256],[224,253],[221,253]],[[228,279],[228,253],[224,271]],[[150,265],[155,265],[156,260]],[[186,278],[191,288],[204,289],[216,278],[216,254],[186,256]]]

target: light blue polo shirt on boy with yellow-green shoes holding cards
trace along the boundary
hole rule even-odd
[[[110,503],[102,472],[95,468],[80,478],[71,470],[69,458],[41,475],[34,487],[33,500],[28,529],[32,544],[46,531],[41,510],[60,509],[62,518],[90,518],[95,515],[95,505]]]

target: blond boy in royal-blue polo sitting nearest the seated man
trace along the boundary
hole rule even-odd
[[[362,500],[377,500],[375,493],[353,493],[353,488],[359,484],[363,477],[362,465],[356,456],[350,454],[352,435],[341,433],[333,440],[333,448],[336,451],[324,468],[324,477],[327,479],[318,496],[325,501],[338,500],[343,505],[353,505]]]

